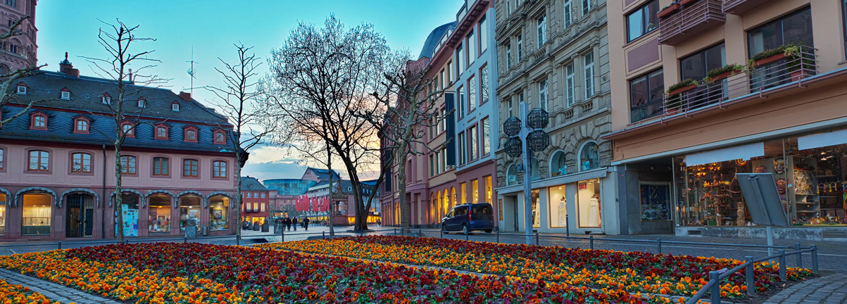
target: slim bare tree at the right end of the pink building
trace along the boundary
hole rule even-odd
[[[261,95],[258,90],[256,69],[261,65],[255,53],[251,53],[252,47],[236,44],[235,51],[237,60],[227,63],[218,58],[223,68],[215,68],[224,79],[224,86],[208,86],[218,101],[216,106],[223,111],[223,115],[233,124],[234,130],[230,132],[230,145],[235,150],[235,158],[238,165],[235,166],[235,178],[237,186],[235,190],[235,214],[241,221],[241,168],[244,167],[250,149],[260,143],[263,138],[272,132],[276,125],[274,116],[267,115],[262,107],[259,107],[257,97]],[[239,225],[240,227],[241,225]],[[241,228],[235,229],[236,235],[241,235]]]

